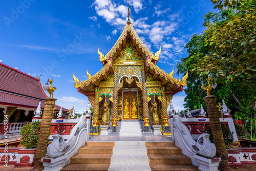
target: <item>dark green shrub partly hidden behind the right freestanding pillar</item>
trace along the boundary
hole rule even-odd
[[[234,141],[233,132],[229,131],[228,127],[222,122],[221,122],[221,129],[222,129],[225,145],[230,146]],[[212,138],[211,128],[207,127],[206,132],[210,134],[209,136],[210,142],[214,143],[214,138]]]

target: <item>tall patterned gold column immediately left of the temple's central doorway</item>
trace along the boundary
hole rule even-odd
[[[113,88],[113,112],[112,112],[112,126],[111,132],[116,133],[118,132],[118,125],[117,125],[117,104],[118,104],[118,92],[117,92],[117,66],[114,66],[114,88]]]

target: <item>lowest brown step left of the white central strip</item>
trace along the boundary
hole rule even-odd
[[[61,169],[61,171],[93,171],[93,170],[98,170],[98,171],[105,171],[109,170],[110,164],[69,164],[65,166],[64,168]]]

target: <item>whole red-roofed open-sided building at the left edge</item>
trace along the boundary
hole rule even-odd
[[[8,122],[31,122],[39,102],[43,112],[46,97],[38,78],[0,63],[0,123],[4,122],[5,114]],[[60,106],[55,108],[56,114]],[[67,112],[62,108],[63,114]]]

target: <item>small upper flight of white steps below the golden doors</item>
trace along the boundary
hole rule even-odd
[[[142,137],[139,121],[122,121],[119,137]]]

